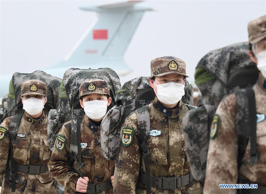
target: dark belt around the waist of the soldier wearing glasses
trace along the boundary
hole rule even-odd
[[[194,180],[191,173],[180,177],[150,177],[150,186],[160,189],[177,189],[188,185]],[[139,182],[146,185],[145,174],[139,175]]]

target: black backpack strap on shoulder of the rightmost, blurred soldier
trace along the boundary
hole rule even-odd
[[[250,137],[250,165],[257,162],[257,137],[256,137],[256,100],[254,90],[246,88],[236,91],[236,133],[238,137],[238,168],[246,151]]]

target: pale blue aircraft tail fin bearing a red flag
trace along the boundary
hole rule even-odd
[[[102,6],[82,6],[82,10],[97,11],[98,21],[90,27],[73,50],[64,59],[64,66],[79,67],[102,63],[110,68],[123,64],[123,55],[145,11],[137,7],[141,1],[127,1]],[[113,64],[119,61],[119,64]],[[114,65],[114,67],[112,66]],[[62,66],[62,62],[56,66]],[[125,63],[124,63],[125,65]],[[129,69],[129,68],[128,68]]]

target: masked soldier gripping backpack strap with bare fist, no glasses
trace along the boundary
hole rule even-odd
[[[113,193],[110,178],[114,172],[115,161],[106,160],[100,146],[100,123],[112,100],[109,97],[109,86],[104,80],[90,79],[80,85],[79,92],[80,105],[85,111],[81,124],[81,142],[78,142],[81,146],[79,162],[84,164],[80,168],[81,173],[78,174],[76,161],[73,165],[69,164],[69,148],[73,144],[70,143],[70,134],[73,133],[71,121],[66,122],[59,131],[48,164],[49,170],[66,187],[64,193],[85,193],[87,188],[92,187],[96,190],[90,190],[91,193]],[[89,105],[92,103],[94,105]]]

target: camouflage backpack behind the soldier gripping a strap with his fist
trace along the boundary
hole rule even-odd
[[[53,149],[57,133],[63,124],[75,118],[81,118],[85,115],[79,102],[80,84],[88,79],[98,78],[105,80],[110,88],[110,97],[115,99],[115,93],[121,88],[118,75],[110,68],[99,69],[78,69],[71,68],[64,73],[64,78],[60,85],[59,108],[52,109],[48,115],[48,144],[50,150]],[[115,105],[112,100],[108,110]],[[73,130],[72,130],[73,131]]]

